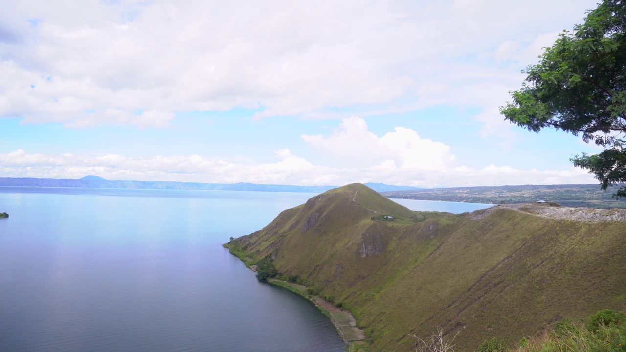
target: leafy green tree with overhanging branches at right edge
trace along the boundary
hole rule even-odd
[[[513,102],[500,106],[505,120],[528,130],[557,128],[604,150],[571,158],[600,181],[600,188],[626,182],[626,0],[604,0],[585,24],[563,31],[526,68]],[[613,197],[626,197],[620,187]]]

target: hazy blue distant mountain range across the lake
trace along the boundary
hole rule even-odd
[[[386,184],[369,184],[379,192],[388,190],[415,190],[414,187],[403,187]],[[0,186],[13,187],[83,187],[109,189],[178,189],[178,190],[247,190],[260,192],[309,192],[321,193],[336,186],[296,186],[296,185],[262,185],[239,182],[237,184],[203,184],[198,182],[170,181],[111,181],[96,175],[88,175],[82,179],[33,179],[33,178],[0,178]]]

